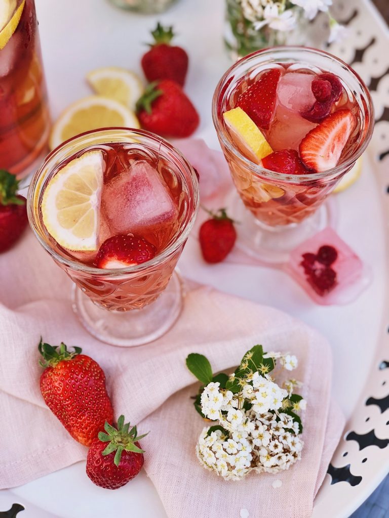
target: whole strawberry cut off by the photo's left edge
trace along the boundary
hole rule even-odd
[[[0,169],[0,252],[11,248],[28,223],[26,199],[16,194],[18,188],[15,175]]]

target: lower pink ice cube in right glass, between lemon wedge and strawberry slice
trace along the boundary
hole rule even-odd
[[[298,151],[301,140],[316,126],[314,122],[307,121],[297,112],[279,104],[266,138],[273,151],[281,149]]]

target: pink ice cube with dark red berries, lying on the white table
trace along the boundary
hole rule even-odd
[[[350,303],[369,281],[360,258],[329,227],[291,252],[287,270],[322,305]]]

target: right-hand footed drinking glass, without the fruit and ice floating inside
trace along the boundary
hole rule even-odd
[[[287,175],[251,162],[231,138],[223,113],[234,107],[239,94],[265,69],[288,65],[288,71],[323,71],[340,78],[350,102],[357,104],[353,142],[340,163],[324,172]],[[239,194],[229,200],[229,213],[239,226],[238,245],[266,263],[284,263],[289,252],[334,220],[323,202],[366,149],[373,131],[374,113],[369,91],[356,72],[335,56],[304,47],[276,47],[244,57],[220,79],[212,102],[212,117],[221,149]]]

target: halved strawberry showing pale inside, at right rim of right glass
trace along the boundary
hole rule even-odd
[[[299,147],[300,157],[305,166],[317,172],[335,167],[355,127],[355,122],[350,110],[339,110],[305,135]]]

